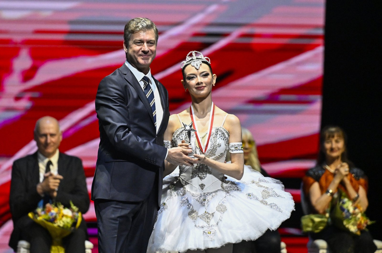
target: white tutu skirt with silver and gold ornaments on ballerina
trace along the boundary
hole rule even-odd
[[[283,184],[249,166],[214,192],[193,193],[175,174],[163,180],[162,205],[147,252],[203,250],[256,240],[290,217],[294,202]]]

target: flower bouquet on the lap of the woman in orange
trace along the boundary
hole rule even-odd
[[[361,230],[366,229],[367,225],[373,224],[375,221],[370,221],[359,205],[348,199],[345,192],[342,192],[337,205],[333,208],[331,215],[333,223],[346,231],[360,235]]]

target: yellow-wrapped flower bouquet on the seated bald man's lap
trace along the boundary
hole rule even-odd
[[[37,208],[28,216],[49,231],[53,238],[51,253],[65,252],[62,238],[77,229],[82,220],[81,212],[73,202],[70,202],[70,208],[64,207],[61,203],[56,205],[48,203],[45,208]]]

